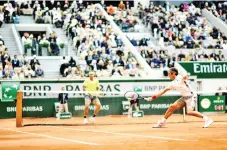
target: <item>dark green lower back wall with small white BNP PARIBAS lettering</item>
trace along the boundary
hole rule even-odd
[[[144,112],[144,115],[161,115],[164,114],[168,107],[174,103],[179,97],[163,96],[153,102],[144,100],[139,101],[139,108]],[[122,115],[124,110],[123,102],[127,101],[124,97],[105,97],[100,98],[101,110],[99,116],[107,115]],[[57,98],[51,99],[24,99],[23,100],[23,117],[55,117],[56,116]],[[83,117],[84,114],[84,99],[70,98],[68,100],[69,112],[75,116]],[[95,106],[89,107],[89,114],[94,113]],[[16,115],[16,104],[14,102],[0,103],[0,119],[14,118]],[[182,110],[177,110],[174,113],[182,113]]]

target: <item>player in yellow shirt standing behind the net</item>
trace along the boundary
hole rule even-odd
[[[87,116],[89,111],[89,106],[91,102],[96,106],[94,115],[90,118],[91,123],[95,123],[95,117],[98,115],[101,103],[98,99],[98,93],[89,93],[99,91],[99,81],[95,79],[95,73],[89,72],[89,78],[86,79],[83,83],[83,90],[86,92],[85,94],[85,108],[84,108],[84,124],[88,124]]]

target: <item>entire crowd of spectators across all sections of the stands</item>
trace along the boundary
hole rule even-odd
[[[210,9],[214,7],[213,5],[207,8],[214,13],[218,12],[219,17],[223,20],[226,17],[225,5],[225,3],[222,3],[221,5],[218,4],[215,9]],[[8,7],[11,8],[12,6]],[[204,7],[206,7],[206,4]],[[34,9],[32,15],[36,23],[54,24],[57,28],[62,28],[72,40],[79,60],[74,59],[72,56],[69,60],[63,58],[59,69],[63,77],[87,77],[91,70],[95,71],[98,77],[146,76],[143,68],[124,46],[120,36],[114,33],[109,22],[95,5],[83,5],[75,1],[69,5],[69,3],[63,4],[62,2],[55,3],[51,1],[51,5],[46,7],[35,1],[33,6],[29,2],[20,4],[20,10],[14,9],[14,12],[23,13],[25,11],[22,12],[22,9],[30,8]],[[5,8],[2,13],[0,11],[0,26],[1,14],[3,14],[3,21],[6,20],[6,10],[10,9]],[[221,50],[218,53],[213,52],[211,54],[196,52],[185,54],[181,51],[176,55],[170,54],[168,50],[163,48],[169,45],[186,49],[227,48],[226,36],[219,29],[212,27],[206,18],[202,17],[201,9],[196,8],[195,5],[183,3],[176,7],[167,2],[165,6],[154,6],[151,2],[148,8],[143,9],[139,3],[138,10],[140,10],[139,17],[144,24],[150,27],[152,35],[159,39],[158,46],[161,49],[151,48],[148,45],[149,39],[146,37],[141,39],[130,38],[129,40],[152,68],[173,67],[175,61],[225,60]],[[135,28],[137,25],[137,17],[134,16],[135,13],[130,9],[128,3],[124,4],[121,1],[117,8],[111,5],[106,7],[106,11],[113,16],[114,21],[123,32],[129,32],[130,28]],[[5,49],[1,46],[3,42],[0,41],[0,49]],[[24,33],[22,42],[24,52],[27,53],[28,49],[31,49],[31,55],[42,55],[40,54],[41,48],[46,43],[48,43],[47,48],[50,53],[57,55],[60,50],[55,33],[50,34],[49,37],[45,34],[34,37],[32,34]],[[17,62],[17,56],[11,60],[7,55],[5,58],[5,50],[2,50],[2,53],[1,56],[4,58],[1,59],[3,72],[5,68],[10,68],[10,63],[12,64],[11,68],[14,68],[13,64]],[[29,62],[26,60],[25,54],[23,59],[18,60],[19,66],[15,68],[20,68],[18,69],[20,70],[19,73],[24,72],[24,77],[43,76],[44,73],[40,68],[40,63],[35,58],[34,56],[34,61]],[[6,70],[6,72],[9,71]],[[16,75],[17,72],[14,72]]]

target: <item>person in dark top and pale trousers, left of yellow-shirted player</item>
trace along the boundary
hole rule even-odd
[[[64,87],[62,87],[61,90],[62,90],[62,93],[58,94],[58,100],[60,102],[60,106],[59,106],[59,109],[58,109],[57,119],[60,119],[60,114],[61,114],[63,109],[64,109],[64,111],[66,113],[69,112],[68,103],[67,103],[67,101],[68,101],[68,93],[64,93],[64,91],[65,91]]]

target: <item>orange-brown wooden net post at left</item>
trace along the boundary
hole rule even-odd
[[[16,127],[22,127],[22,99],[23,92],[17,91],[17,101],[16,101]]]

